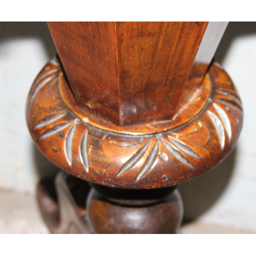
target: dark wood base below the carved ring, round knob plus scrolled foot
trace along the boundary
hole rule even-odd
[[[87,181],[63,171],[55,181],[40,181],[38,204],[52,233],[179,232],[183,206],[176,186],[117,189],[91,185],[95,188],[90,190]]]

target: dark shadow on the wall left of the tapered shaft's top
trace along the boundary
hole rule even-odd
[[[57,53],[46,22],[0,22],[0,42],[15,38],[40,39],[49,59]]]

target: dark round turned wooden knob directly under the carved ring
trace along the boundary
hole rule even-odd
[[[95,233],[178,233],[183,206],[178,190],[160,200],[106,199],[92,189],[87,219]]]

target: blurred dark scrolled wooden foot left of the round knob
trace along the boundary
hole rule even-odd
[[[61,171],[37,185],[38,206],[51,233],[91,233],[86,222],[88,182]]]

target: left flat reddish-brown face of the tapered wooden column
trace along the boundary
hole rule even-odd
[[[114,22],[49,22],[80,108],[120,123]]]

